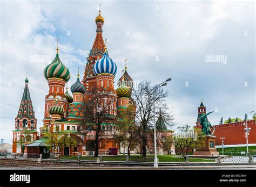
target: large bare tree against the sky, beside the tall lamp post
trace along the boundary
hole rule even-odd
[[[135,122],[142,145],[142,156],[146,156],[149,132],[153,129],[153,104],[155,104],[156,113],[161,113],[165,124],[169,127],[173,125],[173,117],[165,100],[167,94],[163,88],[157,89],[157,85],[151,86],[148,81],[139,83],[138,88],[133,89],[132,97],[137,106]]]

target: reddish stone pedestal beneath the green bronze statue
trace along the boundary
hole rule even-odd
[[[203,148],[196,148],[193,155],[205,155],[205,156],[217,156],[219,152],[215,148],[215,139],[216,136],[213,135],[206,135],[205,136],[205,147]]]

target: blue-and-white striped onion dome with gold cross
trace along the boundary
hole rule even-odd
[[[117,64],[109,57],[107,54],[107,49],[105,47],[105,53],[101,59],[99,59],[93,66],[93,72],[95,75],[108,73],[116,75]]]

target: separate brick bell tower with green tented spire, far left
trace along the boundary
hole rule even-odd
[[[32,100],[29,93],[29,80],[25,79],[25,88],[18,115],[15,118],[14,138],[12,140],[12,153],[23,153],[24,145],[37,140],[37,119],[33,111]]]

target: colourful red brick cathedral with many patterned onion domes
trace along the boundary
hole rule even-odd
[[[85,156],[93,152],[95,145],[93,145],[92,137],[95,133],[92,131],[91,134],[84,136],[81,125],[83,103],[92,100],[92,91],[95,89],[100,93],[107,93],[107,97],[111,97],[114,101],[108,110],[109,115],[117,116],[119,110],[129,106],[136,107],[134,100],[131,98],[133,80],[127,73],[126,63],[123,76],[118,80],[118,88],[114,89],[114,78],[118,69],[117,64],[109,56],[103,40],[104,18],[100,15],[100,10],[95,22],[97,26],[96,38],[89,56],[86,58],[87,63],[82,80],[80,80],[78,68],[77,81],[70,88],[72,96],[67,84],[70,80],[70,71],[60,60],[58,43],[55,59],[44,69],[44,77],[48,82],[49,92],[45,96],[44,119],[43,127],[40,128],[40,139],[36,131],[37,119],[30,98],[29,81],[26,78],[22,102],[18,116],[15,118],[13,153],[22,153],[22,147],[18,146],[18,142],[22,139],[25,139],[26,143],[30,143],[29,145],[43,146],[44,134],[48,132],[69,133],[76,139],[77,146],[64,147],[60,154],[69,155],[74,153],[77,155],[80,153]],[[101,128],[103,138],[99,142],[99,154],[108,153],[109,148],[119,148],[116,142],[110,141],[113,133],[118,131],[118,127],[115,124],[102,124]],[[30,150],[33,153],[36,152],[35,149]]]

